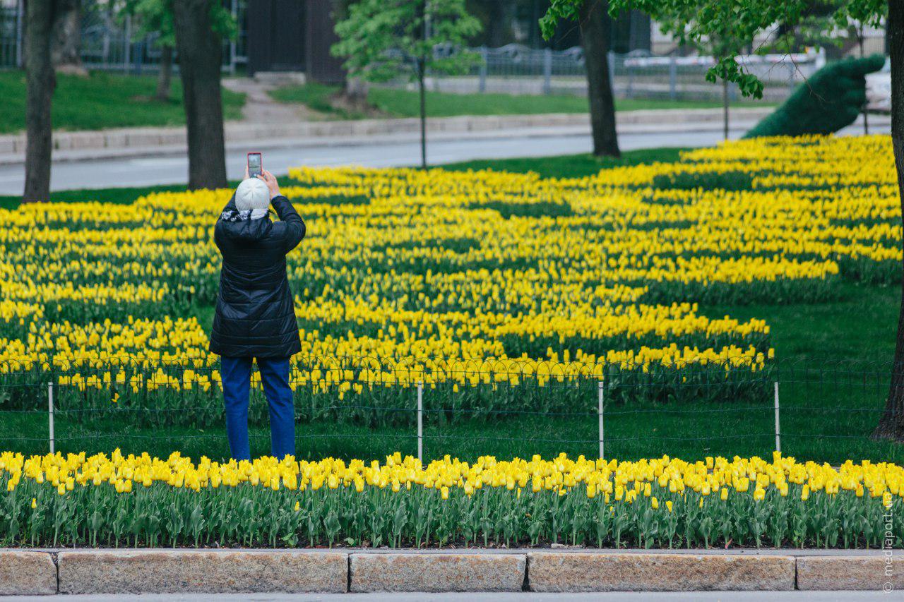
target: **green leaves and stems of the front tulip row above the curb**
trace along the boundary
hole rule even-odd
[[[747,482],[743,491],[722,484],[723,500],[721,492],[710,493],[709,484],[700,492],[690,486],[675,491],[673,482],[681,483],[681,476],[673,479],[672,491],[655,477],[628,474],[633,478],[626,487],[613,486],[614,480],[607,479],[599,490],[584,483],[559,489],[540,475],[521,482],[524,477],[515,475],[509,477],[511,491],[503,478],[502,483],[487,482],[466,492],[456,484],[441,487],[438,482],[434,487],[431,481],[428,488],[413,479],[406,484],[393,479],[383,486],[365,485],[361,476],[336,481],[339,471],[316,469],[314,478],[289,476],[288,486],[280,469],[272,476],[270,471],[264,473],[270,486],[223,484],[216,476],[219,468],[208,472],[217,479],[215,485],[206,473],[199,479],[173,470],[175,486],[133,482],[120,473],[110,476],[109,483],[73,482],[66,491],[66,478],[61,477],[62,494],[49,482],[38,484],[27,476],[7,491],[10,477],[0,472],[0,545],[313,548],[344,543],[432,548],[460,542],[464,548],[564,543],[645,549],[856,549],[880,548],[886,529],[892,541],[904,536],[904,503],[898,496],[889,498],[886,509],[883,498],[873,497],[869,489],[865,495],[861,489],[859,496],[845,490],[829,494],[815,487],[810,492],[809,484],[794,482],[786,485],[785,496],[778,487],[767,485],[761,499],[755,497],[755,483]],[[261,478],[257,467],[253,475]],[[293,484],[292,478],[304,487]],[[196,480],[203,483],[197,490],[190,484]],[[358,482],[360,494],[355,490]],[[890,518],[880,520],[883,513]]]

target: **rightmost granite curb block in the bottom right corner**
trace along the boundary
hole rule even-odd
[[[891,552],[892,550],[886,550]],[[895,555],[900,550],[894,550]],[[811,556],[797,559],[797,588],[805,590],[904,588],[904,570],[891,555],[878,556]],[[890,574],[886,574],[886,566]]]

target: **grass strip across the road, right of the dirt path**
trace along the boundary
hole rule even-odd
[[[280,102],[300,103],[332,118],[362,118],[358,113],[334,108],[330,102],[338,91],[336,86],[304,84],[286,86],[270,92]],[[368,100],[373,108],[386,117],[418,117],[418,93],[404,89],[372,88]],[[736,106],[769,106],[767,103],[745,102]],[[713,108],[721,103],[711,100],[617,99],[616,110],[632,111],[645,108]],[[531,115],[539,113],[586,113],[587,99],[581,96],[529,96],[513,94],[451,94],[427,93],[428,117],[457,115]]]

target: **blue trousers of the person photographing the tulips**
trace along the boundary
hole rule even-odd
[[[237,460],[250,460],[248,402],[251,382],[250,357],[221,357],[226,436]],[[270,409],[270,453],[282,459],[295,456],[295,407],[288,386],[288,358],[258,358],[260,381]]]

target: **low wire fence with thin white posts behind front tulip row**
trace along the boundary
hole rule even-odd
[[[443,361],[379,369],[373,359],[296,358],[299,457],[541,455],[768,456],[840,464],[900,461],[873,440],[890,366],[856,362],[649,364]],[[0,449],[229,456],[219,372],[206,359],[6,362]],[[257,372],[252,453],[269,451]]]

